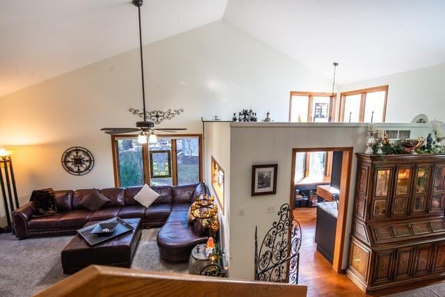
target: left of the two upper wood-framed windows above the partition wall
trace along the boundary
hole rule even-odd
[[[337,94],[291,92],[289,122],[332,122]]]

